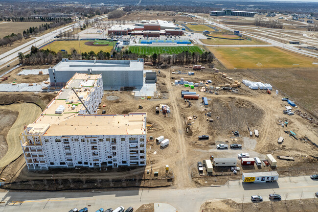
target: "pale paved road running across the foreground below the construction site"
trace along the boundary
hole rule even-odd
[[[0,212],[68,212],[71,208],[88,207],[90,211],[99,208],[113,209],[118,206],[135,209],[142,204],[167,203],[179,212],[198,212],[200,206],[213,199],[232,199],[236,202],[250,202],[251,195],[261,195],[269,201],[268,195],[276,192],[285,199],[314,198],[318,181],[309,176],[279,178],[276,183],[242,184],[230,181],[221,187],[189,189],[140,189],[126,191],[90,192],[2,192]],[[91,205],[91,206],[88,206]]]

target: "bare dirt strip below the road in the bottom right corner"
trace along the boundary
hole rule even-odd
[[[200,212],[313,212],[317,203],[317,198],[243,204],[226,199],[205,202]]]

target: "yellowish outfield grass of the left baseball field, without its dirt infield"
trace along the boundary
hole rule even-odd
[[[110,44],[107,47],[92,47],[92,46],[85,45],[86,42],[88,41],[54,41],[42,47],[42,49],[48,48],[55,52],[65,49],[68,51],[68,53],[70,53],[72,49],[76,49],[78,53],[90,52],[90,51],[94,51],[95,53],[98,53],[100,50],[103,50],[105,52],[111,52],[113,50],[113,44]],[[81,47],[81,51],[80,51],[79,45]]]

